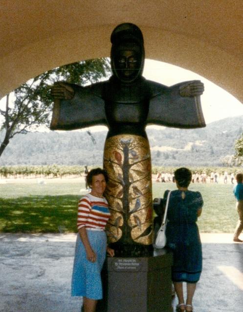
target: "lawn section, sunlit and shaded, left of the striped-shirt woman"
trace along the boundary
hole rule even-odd
[[[0,232],[76,232],[77,203],[84,183],[0,185]]]

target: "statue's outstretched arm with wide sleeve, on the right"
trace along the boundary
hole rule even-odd
[[[152,94],[148,124],[175,128],[205,127],[199,97],[203,92],[200,81],[185,81],[171,87],[148,82]]]

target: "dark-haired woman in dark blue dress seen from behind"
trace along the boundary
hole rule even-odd
[[[202,251],[196,221],[203,200],[199,192],[188,191],[192,173],[187,168],[175,172],[178,190],[170,195],[166,226],[167,246],[173,251],[172,281],[178,297],[177,311],[193,311],[192,299],[202,270]],[[168,191],[165,191],[166,199]],[[183,285],[187,283],[186,303]]]

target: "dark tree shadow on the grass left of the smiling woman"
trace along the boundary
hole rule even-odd
[[[80,195],[0,198],[2,233],[73,233]]]

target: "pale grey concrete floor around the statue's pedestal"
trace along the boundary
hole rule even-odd
[[[75,234],[0,234],[0,312],[80,312],[82,298],[70,296],[75,239]],[[243,311],[243,243],[233,243],[231,234],[201,239],[203,272],[194,311]]]

